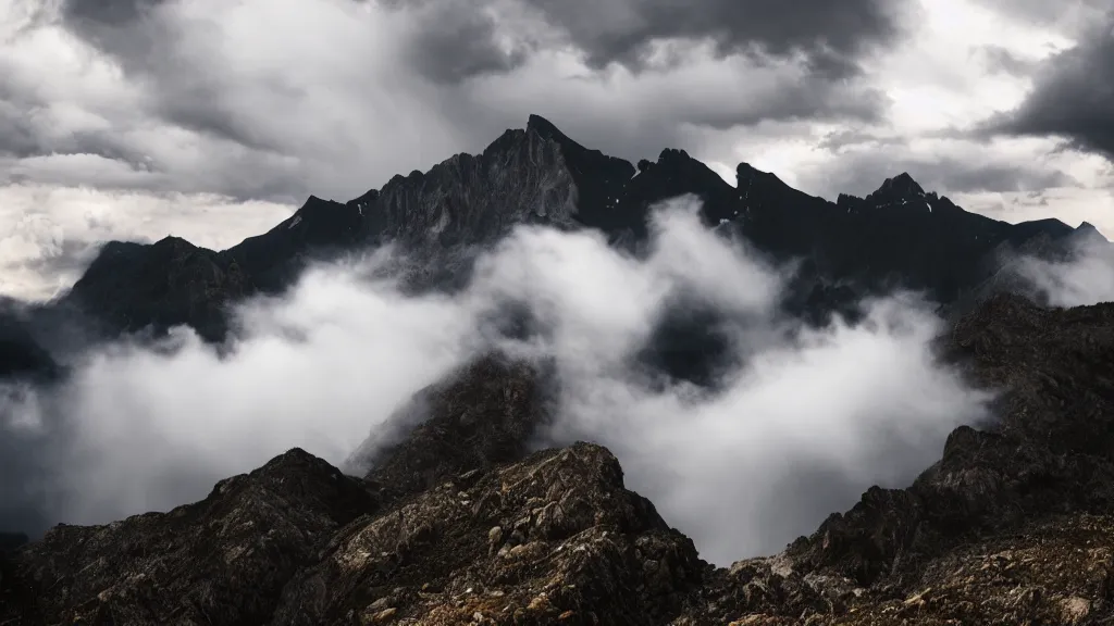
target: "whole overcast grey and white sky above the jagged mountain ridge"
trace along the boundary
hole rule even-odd
[[[214,248],[530,113],[812,194],[908,170],[1114,236],[1114,0],[0,0],[0,294]]]

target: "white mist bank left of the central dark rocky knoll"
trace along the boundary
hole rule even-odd
[[[60,391],[32,398],[42,422],[62,424],[51,513],[104,522],[165,510],[294,446],[340,462],[461,362],[476,327],[461,313],[353,267],[319,268],[287,297],[245,305],[247,334],[224,356],[185,329],[154,349],[88,354]]]

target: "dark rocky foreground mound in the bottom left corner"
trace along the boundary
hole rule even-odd
[[[201,502],[57,526],[0,564],[0,624],[261,624],[333,534],[375,509],[363,482],[291,450]]]

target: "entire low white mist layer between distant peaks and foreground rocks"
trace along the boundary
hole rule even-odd
[[[23,485],[40,510],[165,510],[294,446],[341,463],[416,391],[501,348],[557,364],[548,442],[608,446],[628,486],[725,564],[781,549],[871,485],[908,483],[984,417],[986,398],[934,360],[939,322],[915,296],[866,303],[853,327],[802,327],[779,313],[789,271],[703,228],[688,200],[655,213],[637,258],[592,233],[521,228],[451,296],[403,295],[377,272],[391,260],[316,267],[246,304],[223,356],[180,330],[88,354],[60,388],[9,401],[6,438],[37,450]],[[511,302],[532,314],[526,339],[482,323]],[[677,307],[715,311],[739,355],[712,390],[663,384],[635,358]]]

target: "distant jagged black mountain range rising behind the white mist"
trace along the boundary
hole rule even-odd
[[[841,194],[834,203],[747,164],[737,167],[733,187],[684,150],[666,149],[635,166],[530,116],[526,129],[506,131],[480,155],[395,176],[346,203],[311,196],[289,219],[226,251],[177,237],[106,244],[72,290],[40,314],[51,322],[28,336],[57,335],[80,322],[92,336],[157,335],[188,325],[221,342],[234,331],[232,305],[283,291],[314,260],[393,243],[410,253],[402,268],[408,286],[451,290],[466,283],[479,252],[519,224],[596,228],[636,251],[651,207],[685,194],[703,202],[709,226],[740,234],[774,262],[801,262],[783,306],[813,323],[832,313],[853,317],[863,295],[898,286],[924,291],[959,314],[993,291],[1005,252],[1063,256],[1073,237],[1102,238],[1088,224],[1014,225],[968,213],[908,174],[886,179],[866,198]],[[704,331],[714,320],[682,313],[663,324],[664,344],[652,348],[647,362],[706,382],[714,371],[709,360],[722,351],[714,332]],[[0,353],[0,375],[38,366],[31,345]]]

